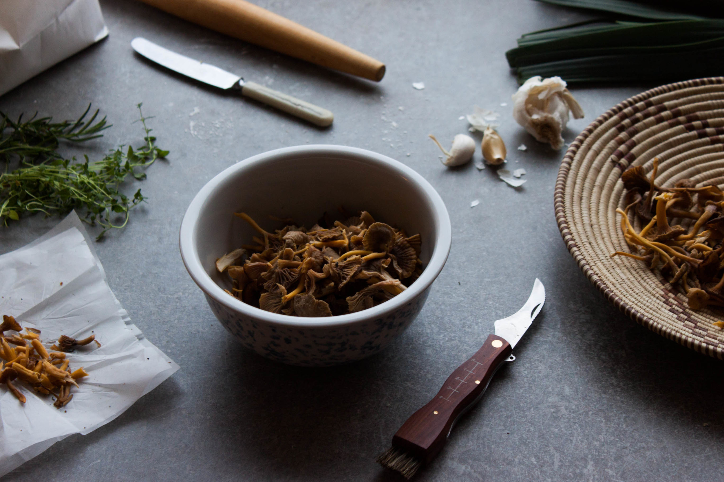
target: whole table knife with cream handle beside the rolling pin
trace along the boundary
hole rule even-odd
[[[287,96],[287,94],[277,92],[277,90],[271,90],[270,88],[264,87],[264,85],[245,82],[243,78],[238,75],[177,54],[151,41],[147,41],[145,38],[134,38],[131,41],[131,46],[133,50],[146,57],[146,59],[163,65],[167,69],[172,69],[174,72],[224,90],[240,90],[242,96],[251,97],[256,101],[285,111],[287,114],[305,119],[312,124],[327,127],[329,124],[332,124],[334,120],[332,112],[327,109],[322,109],[312,103],[300,101],[298,98]]]

